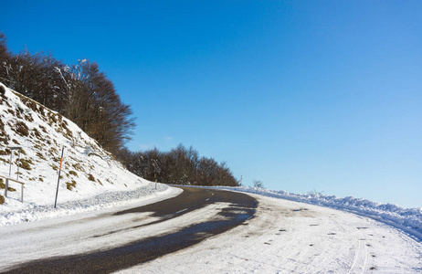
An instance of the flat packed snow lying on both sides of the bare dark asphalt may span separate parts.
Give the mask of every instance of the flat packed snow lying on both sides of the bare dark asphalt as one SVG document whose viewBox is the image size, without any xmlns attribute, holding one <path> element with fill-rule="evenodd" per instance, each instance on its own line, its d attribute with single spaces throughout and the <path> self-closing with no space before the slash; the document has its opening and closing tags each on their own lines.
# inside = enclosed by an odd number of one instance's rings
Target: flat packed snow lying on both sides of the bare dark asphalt
<svg viewBox="0 0 422 274">
<path fill-rule="evenodd" d="M 161 198 L 177 194 L 171 188 Z M 119 273 L 422 273 L 422 243 L 396 227 L 325 206 L 251 195 L 258 199 L 257 212 L 242 226 Z M 157 224 L 149 213 L 112 215 L 126 205 L 0 227 L 0 269 L 172 233 L 218 215 L 223 204 Z M 128 229 L 133 222 L 145 226 Z"/>
</svg>

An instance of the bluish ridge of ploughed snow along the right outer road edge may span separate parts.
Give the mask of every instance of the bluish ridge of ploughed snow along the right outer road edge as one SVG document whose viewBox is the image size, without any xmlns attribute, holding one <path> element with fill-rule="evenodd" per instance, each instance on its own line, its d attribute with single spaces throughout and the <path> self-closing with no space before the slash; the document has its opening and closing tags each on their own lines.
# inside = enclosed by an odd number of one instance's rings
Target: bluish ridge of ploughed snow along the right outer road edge
<svg viewBox="0 0 422 274">
<path fill-rule="evenodd" d="M 322 205 L 361 216 L 368 216 L 387 225 L 399 228 L 418 241 L 422 241 L 422 207 L 405 208 L 399 205 L 381 204 L 351 196 L 340 198 L 335 195 L 317 193 L 295 194 L 282 190 L 267 190 L 250 186 L 222 186 L 217 188 L 281 198 L 311 205 Z"/>
</svg>

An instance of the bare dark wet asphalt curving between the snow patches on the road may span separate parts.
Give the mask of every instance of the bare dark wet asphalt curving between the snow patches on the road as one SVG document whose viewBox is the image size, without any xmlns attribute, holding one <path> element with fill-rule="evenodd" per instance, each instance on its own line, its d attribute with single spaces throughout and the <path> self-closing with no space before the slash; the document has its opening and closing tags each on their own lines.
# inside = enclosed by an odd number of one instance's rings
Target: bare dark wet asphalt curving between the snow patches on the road
<svg viewBox="0 0 422 274">
<path fill-rule="evenodd" d="M 258 205 L 254 198 L 240 193 L 194 187 L 181 188 L 184 192 L 174 198 L 152 205 L 134 207 L 114 215 L 153 212 L 152 216 L 158 217 L 158 220 L 147 225 L 134 224 L 132 227 L 126 228 L 136 229 L 164 222 L 212 203 L 223 202 L 229 203 L 229 205 L 214 218 L 207 219 L 204 223 L 183 227 L 176 232 L 88 254 L 30 261 L 3 273 L 111 273 L 119 269 L 127 269 L 165 254 L 188 248 L 206 237 L 212 237 L 236 227 L 251 218 Z M 119 232 L 121 231 L 109 231 L 107 234 L 99 234 L 95 237 Z"/>
</svg>

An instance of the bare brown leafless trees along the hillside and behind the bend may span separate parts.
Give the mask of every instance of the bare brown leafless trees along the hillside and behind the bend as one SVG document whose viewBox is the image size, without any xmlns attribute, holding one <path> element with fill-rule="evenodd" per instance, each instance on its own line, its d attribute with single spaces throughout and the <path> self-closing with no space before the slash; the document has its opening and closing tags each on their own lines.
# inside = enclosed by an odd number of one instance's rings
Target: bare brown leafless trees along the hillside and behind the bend
<svg viewBox="0 0 422 274">
<path fill-rule="evenodd" d="M 113 153 L 134 174 L 168 184 L 238 185 L 226 163 L 200 157 L 194 148 L 179 145 L 130 152 L 125 143 L 135 127 L 132 109 L 97 63 L 79 59 L 67 65 L 44 51 L 14 54 L 0 32 L 0 81 L 10 89 L 58 111 Z"/>
</svg>

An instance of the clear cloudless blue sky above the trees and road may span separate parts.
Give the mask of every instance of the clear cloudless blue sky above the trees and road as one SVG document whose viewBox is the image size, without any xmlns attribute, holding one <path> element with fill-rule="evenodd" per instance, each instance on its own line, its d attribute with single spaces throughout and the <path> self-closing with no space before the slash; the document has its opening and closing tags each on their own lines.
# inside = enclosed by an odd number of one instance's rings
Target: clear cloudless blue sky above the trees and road
<svg viewBox="0 0 422 274">
<path fill-rule="evenodd" d="M 14 52 L 96 61 L 133 151 L 178 143 L 243 183 L 422 206 L 421 1 L 2 1 Z"/>
</svg>

